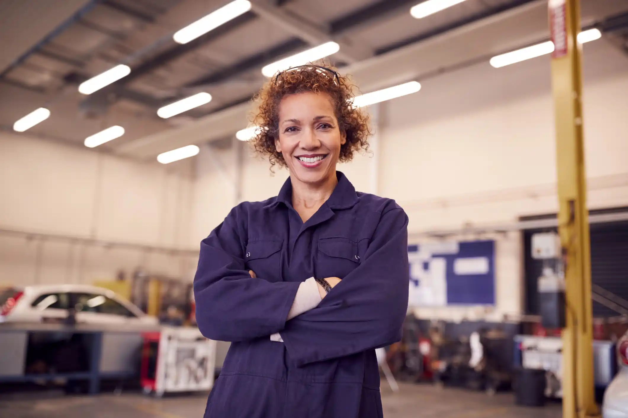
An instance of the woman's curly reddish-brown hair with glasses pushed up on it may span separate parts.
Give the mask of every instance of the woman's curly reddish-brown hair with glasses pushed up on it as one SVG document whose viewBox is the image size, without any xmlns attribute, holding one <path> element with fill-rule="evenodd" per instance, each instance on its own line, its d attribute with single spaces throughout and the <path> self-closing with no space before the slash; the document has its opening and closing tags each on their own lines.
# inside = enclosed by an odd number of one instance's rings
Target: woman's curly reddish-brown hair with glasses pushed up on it
<svg viewBox="0 0 628 418">
<path fill-rule="evenodd" d="M 279 135 L 279 103 L 286 95 L 305 91 L 326 93 L 332 99 L 338 127 L 347 135 L 347 142 L 340 147 L 340 162 L 350 161 L 355 151 L 369 148 L 369 117 L 353 105 L 357 87 L 335 68 L 310 63 L 274 75 L 253 98 L 257 112 L 252 122 L 259 128 L 251 143 L 257 152 L 268 155 L 271 170 L 275 164 L 286 166 L 283 155 L 275 148 Z"/>
</svg>

